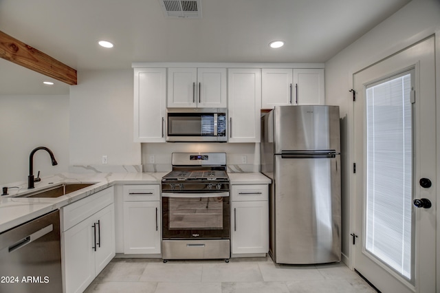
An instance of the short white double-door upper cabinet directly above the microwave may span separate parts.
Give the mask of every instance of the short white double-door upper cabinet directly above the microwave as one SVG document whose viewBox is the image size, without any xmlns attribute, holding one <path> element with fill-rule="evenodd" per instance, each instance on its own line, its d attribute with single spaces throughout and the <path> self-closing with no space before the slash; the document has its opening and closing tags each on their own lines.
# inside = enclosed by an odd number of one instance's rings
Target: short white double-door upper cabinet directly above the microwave
<svg viewBox="0 0 440 293">
<path fill-rule="evenodd" d="M 168 68 L 168 108 L 225 108 L 225 68 Z"/>
</svg>

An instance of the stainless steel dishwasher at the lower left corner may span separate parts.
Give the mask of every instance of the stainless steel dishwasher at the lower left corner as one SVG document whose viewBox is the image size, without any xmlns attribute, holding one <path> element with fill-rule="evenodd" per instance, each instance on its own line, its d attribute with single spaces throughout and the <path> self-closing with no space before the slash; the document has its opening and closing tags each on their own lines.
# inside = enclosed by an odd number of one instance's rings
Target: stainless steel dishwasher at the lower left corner
<svg viewBox="0 0 440 293">
<path fill-rule="evenodd" d="M 0 234 L 0 292 L 63 292 L 59 210 Z"/>
</svg>

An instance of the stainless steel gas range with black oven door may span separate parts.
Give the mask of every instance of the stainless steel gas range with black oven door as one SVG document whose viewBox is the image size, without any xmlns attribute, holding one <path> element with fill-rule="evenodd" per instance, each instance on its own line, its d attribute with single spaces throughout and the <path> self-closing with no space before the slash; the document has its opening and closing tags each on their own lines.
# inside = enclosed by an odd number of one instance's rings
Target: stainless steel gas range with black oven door
<svg viewBox="0 0 440 293">
<path fill-rule="evenodd" d="M 226 153 L 173 153 L 162 178 L 162 257 L 230 258 Z"/>
</svg>

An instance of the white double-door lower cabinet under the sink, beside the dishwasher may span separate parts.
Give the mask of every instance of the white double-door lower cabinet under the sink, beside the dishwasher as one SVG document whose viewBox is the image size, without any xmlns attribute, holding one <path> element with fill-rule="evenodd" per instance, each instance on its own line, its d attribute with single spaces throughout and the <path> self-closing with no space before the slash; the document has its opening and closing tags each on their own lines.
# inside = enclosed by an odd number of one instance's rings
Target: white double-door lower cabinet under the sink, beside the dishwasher
<svg viewBox="0 0 440 293">
<path fill-rule="evenodd" d="M 62 209 L 65 293 L 83 292 L 115 256 L 113 187 Z"/>
</svg>

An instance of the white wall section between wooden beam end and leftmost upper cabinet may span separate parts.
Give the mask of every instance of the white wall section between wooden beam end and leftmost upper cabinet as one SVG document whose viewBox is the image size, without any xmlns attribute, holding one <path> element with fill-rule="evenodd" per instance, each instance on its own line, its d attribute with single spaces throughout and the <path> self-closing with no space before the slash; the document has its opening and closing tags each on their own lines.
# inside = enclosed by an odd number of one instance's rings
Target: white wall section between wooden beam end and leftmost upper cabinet
<svg viewBox="0 0 440 293">
<path fill-rule="evenodd" d="M 140 164 L 133 142 L 133 70 L 78 72 L 70 89 L 70 164 Z"/>
</svg>

